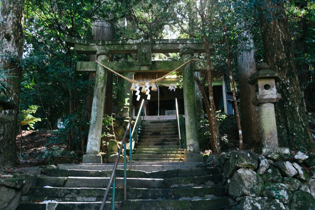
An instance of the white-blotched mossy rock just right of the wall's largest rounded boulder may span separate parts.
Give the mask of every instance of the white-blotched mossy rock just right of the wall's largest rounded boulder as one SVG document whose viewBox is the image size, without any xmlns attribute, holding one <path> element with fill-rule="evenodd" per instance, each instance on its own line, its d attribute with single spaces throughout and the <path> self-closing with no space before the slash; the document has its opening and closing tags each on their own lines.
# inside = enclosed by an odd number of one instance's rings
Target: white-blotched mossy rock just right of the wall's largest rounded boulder
<svg viewBox="0 0 315 210">
<path fill-rule="evenodd" d="M 267 198 L 278 199 L 283 203 L 289 203 L 291 199 L 291 190 L 282 183 L 273 183 L 265 185 L 263 195 Z"/>
</svg>

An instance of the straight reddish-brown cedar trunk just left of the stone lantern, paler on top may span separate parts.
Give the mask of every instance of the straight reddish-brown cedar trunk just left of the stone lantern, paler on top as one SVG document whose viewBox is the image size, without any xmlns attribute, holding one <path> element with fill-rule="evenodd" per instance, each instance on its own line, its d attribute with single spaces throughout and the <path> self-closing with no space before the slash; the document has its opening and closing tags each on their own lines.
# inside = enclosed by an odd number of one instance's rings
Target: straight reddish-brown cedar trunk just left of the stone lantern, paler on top
<svg viewBox="0 0 315 210">
<path fill-rule="evenodd" d="M 238 54 L 238 87 L 241 101 L 241 126 L 244 144 L 251 148 L 261 146 L 261 128 L 259 119 L 259 108 L 252 104 L 255 97 L 255 87 L 249 85 L 247 79 L 256 72 L 254 57 L 254 41 L 248 31 L 243 31 L 243 42 L 239 42 L 240 52 Z"/>
</svg>

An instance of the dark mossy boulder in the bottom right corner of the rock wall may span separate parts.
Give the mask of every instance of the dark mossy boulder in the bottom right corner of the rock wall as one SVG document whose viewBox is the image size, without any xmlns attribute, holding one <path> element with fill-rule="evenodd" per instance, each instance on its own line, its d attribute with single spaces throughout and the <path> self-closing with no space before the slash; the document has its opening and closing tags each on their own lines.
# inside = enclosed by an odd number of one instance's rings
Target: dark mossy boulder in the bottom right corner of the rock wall
<svg viewBox="0 0 315 210">
<path fill-rule="evenodd" d="M 306 192 L 295 191 L 289 203 L 290 210 L 314 210 L 315 199 Z"/>
</svg>

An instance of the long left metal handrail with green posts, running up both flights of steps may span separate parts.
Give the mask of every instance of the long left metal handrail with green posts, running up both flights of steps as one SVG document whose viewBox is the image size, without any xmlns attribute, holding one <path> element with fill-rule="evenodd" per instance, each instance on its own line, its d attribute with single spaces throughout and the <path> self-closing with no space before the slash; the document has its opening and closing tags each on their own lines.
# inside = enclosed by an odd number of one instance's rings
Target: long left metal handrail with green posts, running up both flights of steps
<svg viewBox="0 0 315 210">
<path fill-rule="evenodd" d="M 139 118 L 139 115 L 140 115 L 140 112 L 141 112 L 141 108 L 142 108 L 142 106 L 143 106 L 143 103 L 144 103 L 144 99 L 142 99 L 142 102 L 141 102 L 141 105 L 140 105 L 140 110 L 139 110 L 139 112 L 138 112 L 138 115 L 137 115 L 137 118 L 136 118 L 136 122 L 135 122 L 135 125 L 134 125 L 134 128 L 133 128 L 133 131 L 131 132 L 131 121 L 132 121 L 132 117 L 130 117 L 130 119 L 129 119 L 129 122 L 128 122 L 128 125 L 127 125 L 127 128 L 126 128 L 126 130 L 125 130 L 125 133 L 123 134 L 123 141 L 122 141 L 122 144 L 121 144 L 121 146 L 120 146 L 120 148 L 119 148 L 119 151 L 118 151 L 118 155 L 117 155 L 117 157 L 116 157 L 116 161 L 115 161 L 115 163 L 114 163 L 114 167 L 113 167 L 113 171 L 112 171 L 112 174 L 111 174 L 111 176 L 110 176 L 110 179 L 109 179 L 109 181 L 108 181 L 108 184 L 107 184 L 107 187 L 106 187 L 106 191 L 105 191 L 105 194 L 104 194 L 104 197 L 103 197 L 103 201 L 102 201 L 102 204 L 101 204 L 101 206 L 100 206 L 100 210 L 103 210 L 104 209 L 104 207 L 105 207 L 105 204 L 106 204 L 106 200 L 107 200 L 107 196 L 108 196 L 108 193 L 109 193 L 109 190 L 110 190 L 110 188 L 111 188 L 111 185 L 112 185 L 112 182 L 113 182 L 113 180 L 114 180 L 114 183 L 113 183 L 113 190 L 112 190 L 112 194 L 113 194 L 113 196 L 112 196 L 112 209 L 114 209 L 115 208 L 115 190 L 116 190 L 116 168 L 117 168 L 117 165 L 118 165 L 118 161 L 119 161 L 119 157 L 120 157 L 120 155 L 121 155 L 121 152 L 122 152 L 122 150 L 123 150 L 123 148 L 124 148 L 124 151 L 123 151 L 123 153 L 124 153 L 124 200 L 126 200 L 127 199 L 127 168 L 126 168 L 126 137 L 127 137 L 127 133 L 128 133 L 128 130 L 129 130 L 129 144 L 130 144 L 130 146 L 129 146 L 129 149 L 130 149 L 130 170 L 132 170 L 132 155 L 131 155 L 131 153 L 132 153 L 132 133 L 134 132 L 134 130 L 135 130 L 135 127 L 136 127 L 136 125 L 137 125 L 137 122 L 138 122 L 138 118 Z M 144 110 L 143 110 L 144 111 Z M 144 113 L 143 113 L 143 115 L 144 115 Z M 141 118 L 140 118 L 141 119 Z M 144 117 L 143 117 L 143 119 L 144 119 Z M 140 121 L 141 122 L 141 121 Z M 115 178 L 115 179 L 114 179 Z"/>
</svg>

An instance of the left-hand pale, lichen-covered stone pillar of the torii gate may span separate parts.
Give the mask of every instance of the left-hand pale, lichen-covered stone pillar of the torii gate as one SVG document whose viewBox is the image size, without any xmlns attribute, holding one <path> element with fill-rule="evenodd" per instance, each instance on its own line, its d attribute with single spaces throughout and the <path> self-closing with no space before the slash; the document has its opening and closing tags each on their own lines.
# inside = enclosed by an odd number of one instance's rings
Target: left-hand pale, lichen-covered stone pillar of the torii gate
<svg viewBox="0 0 315 210">
<path fill-rule="evenodd" d="M 106 65 L 106 62 L 108 62 L 111 57 L 111 53 L 105 49 L 100 49 L 97 51 L 96 56 L 97 61 Z M 100 155 L 100 136 L 102 133 L 106 78 L 106 69 L 98 65 L 95 73 L 88 145 L 86 147 L 86 155 L 83 155 L 82 163 L 102 163 L 102 156 Z"/>
</svg>

